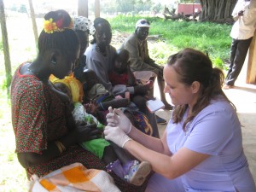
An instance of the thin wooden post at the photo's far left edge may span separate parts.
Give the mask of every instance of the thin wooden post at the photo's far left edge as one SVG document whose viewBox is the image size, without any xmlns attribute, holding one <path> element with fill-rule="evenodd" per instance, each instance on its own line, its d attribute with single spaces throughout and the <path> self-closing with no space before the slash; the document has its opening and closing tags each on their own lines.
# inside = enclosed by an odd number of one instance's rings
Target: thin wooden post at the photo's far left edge
<svg viewBox="0 0 256 192">
<path fill-rule="evenodd" d="M 1 22 L 1 29 L 2 29 L 6 87 L 7 87 L 7 93 L 9 95 L 9 85 L 12 79 L 12 74 L 11 74 L 12 69 L 11 69 L 11 62 L 9 57 L 8 33 L 7 33 L 6 20 L 5 20 L 5 14 L 4 14 L 3 0 L 0 0 L 0 22 Z"/>
</svg>

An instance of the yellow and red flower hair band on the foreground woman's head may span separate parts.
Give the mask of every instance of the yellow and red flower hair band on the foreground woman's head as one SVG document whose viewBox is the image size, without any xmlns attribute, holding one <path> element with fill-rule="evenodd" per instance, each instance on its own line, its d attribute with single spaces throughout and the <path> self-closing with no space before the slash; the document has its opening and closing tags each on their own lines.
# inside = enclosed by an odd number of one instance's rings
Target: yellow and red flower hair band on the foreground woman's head
<svg viewBox="0 0 256 192">
<path fill-rule="evenodd" d="M 44 20 L 44 32 L 53 33 L 53 32 L 63 32 L 65 29 L 73 28 L 73 20 L 70 21 L 69 26 L 63 27 L 63 18 L 60 20 L 53 21 L 52 18 L 49 20 Z"/>
</svg>

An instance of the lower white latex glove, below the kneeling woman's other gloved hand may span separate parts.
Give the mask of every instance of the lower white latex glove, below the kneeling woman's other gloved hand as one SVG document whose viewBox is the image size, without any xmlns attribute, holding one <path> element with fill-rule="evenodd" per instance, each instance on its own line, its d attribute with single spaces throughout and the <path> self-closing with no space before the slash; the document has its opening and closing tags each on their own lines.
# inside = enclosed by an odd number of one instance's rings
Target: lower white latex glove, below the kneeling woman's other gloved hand
<svg viewBox="0 0 256 192">
<path fill-rule="evenodd" d="M 131 140 L 118 126 L 105 126 L 104 135 L 106 140 L 116 143 L 121 148 L 124 148 L 125 143 Z"/>
</svg>

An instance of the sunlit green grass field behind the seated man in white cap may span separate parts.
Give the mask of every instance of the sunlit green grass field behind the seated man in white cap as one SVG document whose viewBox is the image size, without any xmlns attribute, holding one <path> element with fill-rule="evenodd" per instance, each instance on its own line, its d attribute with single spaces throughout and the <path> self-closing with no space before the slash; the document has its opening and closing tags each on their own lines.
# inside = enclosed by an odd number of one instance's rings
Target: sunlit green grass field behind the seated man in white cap
<svg viewBox="0 0 256 192">
<path fill-rule="evenodd" d="M 123 16 L 109 19 L 113 30 L 119 32 L 134 32 L 135 23 L 141 19 L 140 16 Z M 212 61 L 227 60 L 230 56 L 230 29 L 229 25 L 221 25 L 209 22 L 186 22 L 163 20 L 161 18 L 146 17 L 151 27 L 149 35 L 160 35 L 165 42 L 160 46 L 157 44 L 152 57 L 161 61 L 167 59 L 173 51 L 185 47 L 199 49 L 208 52 Z M 149 47 L 150 49 L 150 47 Z M 157 53 L 155 53 L 157 50 Z M 168 50 L 170 53 L 168 53 Z M 154 57 L 155 56 L 155 57 Z M 164 57 L 164 58 L 163 58 Z M 215 63 L 214 63 L 215 65 Z M 222 67 L 215 65 L 217 67 Z"/>
</svg>

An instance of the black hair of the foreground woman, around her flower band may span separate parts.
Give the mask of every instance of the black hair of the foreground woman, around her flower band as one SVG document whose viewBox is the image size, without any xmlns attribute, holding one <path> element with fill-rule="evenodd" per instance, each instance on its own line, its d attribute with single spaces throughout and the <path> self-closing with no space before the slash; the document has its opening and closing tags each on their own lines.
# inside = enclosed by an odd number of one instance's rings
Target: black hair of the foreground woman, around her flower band
<svg viewBox="0 0 256 192">
<path fill-rule="evenodd" d="M 43 56 L 49 49 L 59 49 L 61 53 L 68 54 L 79 48 L 79 39 L 72 29 L 72 19 L 65 10 L 50 11 L 44 16 L 44 20 L 57 22 L 61 20 L 61 31 L 52 33 L 44 29 L 38 38 L 38 55 Z"/>
</svg>

